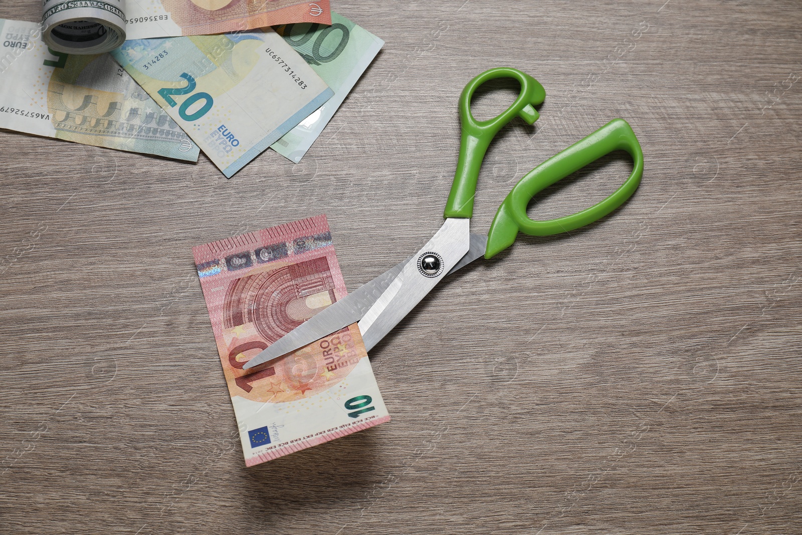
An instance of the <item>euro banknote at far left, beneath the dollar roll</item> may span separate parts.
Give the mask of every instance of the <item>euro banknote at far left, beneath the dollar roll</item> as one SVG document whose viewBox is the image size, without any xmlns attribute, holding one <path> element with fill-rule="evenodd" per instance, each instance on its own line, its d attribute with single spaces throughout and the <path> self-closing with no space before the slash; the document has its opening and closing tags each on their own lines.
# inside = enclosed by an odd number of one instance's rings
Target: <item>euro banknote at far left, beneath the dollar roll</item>
<svg viewBox="0 0 802 535">
<path fill-rule="evenodd" d="M 111 56 L 53 51 L 34 22 L 0 18 L 0 35 L 0 128 L 197 161 L 197 145 Z"/>
</svg>

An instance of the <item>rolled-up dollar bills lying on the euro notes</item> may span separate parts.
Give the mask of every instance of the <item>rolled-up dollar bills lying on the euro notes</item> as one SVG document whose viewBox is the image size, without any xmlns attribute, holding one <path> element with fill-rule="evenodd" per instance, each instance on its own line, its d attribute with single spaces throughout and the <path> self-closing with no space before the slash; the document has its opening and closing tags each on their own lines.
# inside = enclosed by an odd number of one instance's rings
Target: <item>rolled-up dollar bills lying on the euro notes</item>
<svg viewBox="0 0 802 535">
<path fill-rule="evenodd" d="M 44 0 L 42 26 L 57 52 L 108 52 L 125 41 L 125 0 Z"/>
</svg>

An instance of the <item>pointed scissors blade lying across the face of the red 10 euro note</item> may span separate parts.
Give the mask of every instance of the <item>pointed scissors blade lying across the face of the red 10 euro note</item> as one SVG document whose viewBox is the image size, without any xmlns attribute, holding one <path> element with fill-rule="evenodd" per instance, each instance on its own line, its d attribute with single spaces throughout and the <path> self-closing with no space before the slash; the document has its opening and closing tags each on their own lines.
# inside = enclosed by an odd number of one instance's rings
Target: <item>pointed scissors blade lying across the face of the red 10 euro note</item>
<svg viewBox="0 0 802 535">
<path fill-rule="evenodd" d="M 370 310 L 384 290 L 387 290 L 387 286 L 390 286 L 391 282 L 398 277 L 407 261 L 409 261 L 408 258 L 390 270 L 385 271 L 371 282 L 359 286 L 358 289 L 348 294 L 345 298 L 332 303 L 326 307 L 326 310 L 321 310 L 318 314 L 307 319 L 306 322 L 295 327 L 285 336 L 270 344 L 267 349 L 261 351 L 253 359 L 250 359 L 243 368 L 247 370 L 254 366 L 259 366 L 269 360 L 286 355 L 290 351 L 304 347 L 315 340 L 319 340 L 326 334 L 340 330 L 346 325 L 358 322 L 363 318 L 367 310 Z"/>
</svg>

